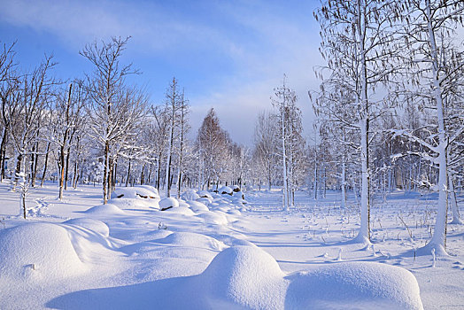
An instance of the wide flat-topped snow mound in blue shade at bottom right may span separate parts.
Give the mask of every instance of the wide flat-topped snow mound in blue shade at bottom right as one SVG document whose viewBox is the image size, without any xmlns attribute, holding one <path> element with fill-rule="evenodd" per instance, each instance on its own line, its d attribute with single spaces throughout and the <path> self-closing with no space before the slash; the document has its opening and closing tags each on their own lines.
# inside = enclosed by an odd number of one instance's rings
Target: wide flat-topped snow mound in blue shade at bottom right
<svg viewBox="0 0 464 310">
<path fill-rule="evenodd" d="M 290 308 L 422 309 L 409 271 L 375 262 L 347 262 L 287 277 Z"/>
</svg>

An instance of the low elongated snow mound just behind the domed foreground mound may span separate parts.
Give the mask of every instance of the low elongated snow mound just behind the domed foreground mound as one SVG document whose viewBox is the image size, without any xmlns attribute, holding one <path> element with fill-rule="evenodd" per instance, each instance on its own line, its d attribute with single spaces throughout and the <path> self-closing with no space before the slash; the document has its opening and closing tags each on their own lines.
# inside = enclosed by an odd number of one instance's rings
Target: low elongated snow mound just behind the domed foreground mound
<svg viewBox="0 0 464 310">
<path fill-rule="evenodd" d="M 226 244 L 212 238 L 190 232 L 174 232 L 162 239 L 153 240 L 157 244 L 170 244 L 175 246 L 195 247 L 209 249 L 213 251 L 222 251 L 227 248 Z"/>
</svg>

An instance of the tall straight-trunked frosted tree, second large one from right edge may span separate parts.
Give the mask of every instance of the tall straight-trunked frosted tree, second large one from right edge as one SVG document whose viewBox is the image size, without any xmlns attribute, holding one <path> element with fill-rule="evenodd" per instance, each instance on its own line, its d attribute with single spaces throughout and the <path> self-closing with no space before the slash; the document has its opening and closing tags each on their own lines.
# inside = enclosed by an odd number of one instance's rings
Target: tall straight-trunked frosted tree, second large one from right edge
<svg viewBox="0 0 464 310">
<path fill-rule="evenodd" d="M 380 0 L 327 0 L 314 16 L 321 25 L 321 53 L 329 70 L 321 101 L 329 113 L 333 105 L 347 109 L 350 105 L 355 121 L 343 120 L 342 115 L 337 118 L 360 133 L 361 222 L 355 241 L 369 243 L 372 121 L 385 108 L 375 90 L 385 87 L 396 70 L 398 47 L 392 26 L 398 13 L 394 4 Z M 341 96 L 346 100 L 336 101 Z"/>
</svg>

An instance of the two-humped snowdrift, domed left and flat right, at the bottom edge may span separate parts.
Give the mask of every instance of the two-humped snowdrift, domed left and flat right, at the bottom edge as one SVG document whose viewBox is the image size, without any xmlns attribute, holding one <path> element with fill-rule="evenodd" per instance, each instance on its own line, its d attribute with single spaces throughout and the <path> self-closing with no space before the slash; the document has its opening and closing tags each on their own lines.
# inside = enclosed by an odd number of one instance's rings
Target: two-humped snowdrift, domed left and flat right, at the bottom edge
<svg viewBox="0 0 464 310">
<path fill-rule="evenodd" d="M 194 280 L 203 283 L 197 308 L 421 309 L 409 271 L 372 262 L 338 263 L 285 276 L 258 247 L 220 252 Z"/>
</svg>

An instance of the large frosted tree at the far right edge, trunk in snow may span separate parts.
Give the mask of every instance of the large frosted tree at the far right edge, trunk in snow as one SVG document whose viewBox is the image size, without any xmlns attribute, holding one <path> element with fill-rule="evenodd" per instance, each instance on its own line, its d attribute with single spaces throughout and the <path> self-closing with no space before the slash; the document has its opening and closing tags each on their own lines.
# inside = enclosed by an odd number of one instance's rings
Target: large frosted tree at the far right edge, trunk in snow
<svg viewBox="0 0 464 310">
<path fill-rule="evenodd" d="M 420 143 L 424 148 L 422 157 L 438 167 L 437 221 L 429 244 L 423 248 L 425 253 L 435 250 L 437 254 L 445 254 L 447 173 L 450 160 L 447 157 L 452 157 L 452 153 L 447 154 L 447 150 L 464 132 L 462 122 L 453 120 L 455 112 L 461 115 L 462 105 L 447 103 L 456 99 L 455 91 L 459 89 L 457 86 L 464 74 L 462 50 L 454 43 L 455 29 L 462 26 L 463 13 L 464 3 L 458 0 L 406 1 L 403 13 L 406 20 L 406 64 L 414 86 L 408 99 L 419 100 L 423 108 L 435 112 L 435 120 L 422 127 L 428 135 L 419 136 L 410 130 L 396 132 L 398 136 L 406 136 Z"/>
</svg>

